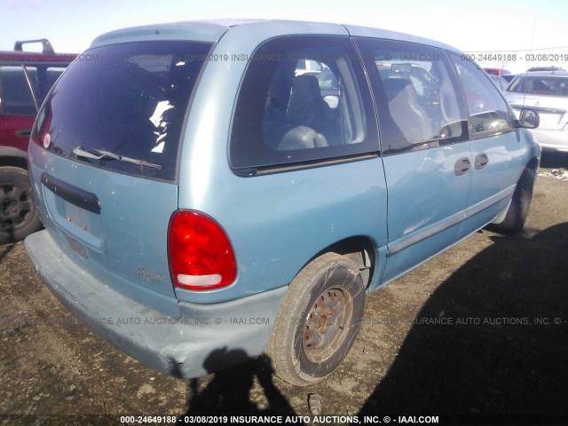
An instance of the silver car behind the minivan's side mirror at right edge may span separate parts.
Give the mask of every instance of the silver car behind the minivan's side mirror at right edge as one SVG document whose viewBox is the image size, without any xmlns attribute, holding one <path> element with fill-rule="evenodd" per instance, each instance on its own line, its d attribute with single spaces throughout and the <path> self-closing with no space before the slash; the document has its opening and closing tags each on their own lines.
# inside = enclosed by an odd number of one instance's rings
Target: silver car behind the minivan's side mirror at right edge
<svg viewBox="0 0 568 426">
<path fill-rule="evenodd" d="M 545 151 L 568 153 L 568 72 L 535 71 L 517 75 L 504 92 L 515 114 L 536 110 L 540 125 L 531 130 Z"/>
</svg>

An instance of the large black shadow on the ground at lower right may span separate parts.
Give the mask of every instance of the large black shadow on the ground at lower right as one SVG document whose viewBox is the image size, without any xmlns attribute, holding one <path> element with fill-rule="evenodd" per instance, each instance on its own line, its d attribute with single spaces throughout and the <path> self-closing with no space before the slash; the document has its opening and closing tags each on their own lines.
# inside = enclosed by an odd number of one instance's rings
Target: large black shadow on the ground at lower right
<svg viewBox="0 0 568 426">
<path fill-rule="evenodd" d="M 494 235 L 436 289 L 359 414 L 568 421 L 568 223 L 529 233 Z"/>
</svg>

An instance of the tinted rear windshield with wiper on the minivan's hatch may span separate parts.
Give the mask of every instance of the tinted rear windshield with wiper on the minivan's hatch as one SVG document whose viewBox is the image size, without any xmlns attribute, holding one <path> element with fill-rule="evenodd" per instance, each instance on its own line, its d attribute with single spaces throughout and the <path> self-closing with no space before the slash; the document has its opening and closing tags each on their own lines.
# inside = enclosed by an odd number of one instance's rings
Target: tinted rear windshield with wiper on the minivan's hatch
<svg viewBox="0 0 568 426">
<path fill-rule="evenodd" d="M 146 42 L 91 49 L 92 60 L 75 61 L 51 91 L 34 138 L 95 167 L 174 180 L 185 112 L 203 65 L 196 59 L 210 48 Z"/>
</svg>

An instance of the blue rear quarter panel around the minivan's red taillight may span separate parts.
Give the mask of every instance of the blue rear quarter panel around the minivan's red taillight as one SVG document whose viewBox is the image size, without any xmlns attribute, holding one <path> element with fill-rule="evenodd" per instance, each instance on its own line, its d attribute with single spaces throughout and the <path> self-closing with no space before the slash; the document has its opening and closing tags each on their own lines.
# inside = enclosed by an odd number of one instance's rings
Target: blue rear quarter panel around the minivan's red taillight
<svg viewBox="0 0 568 426">
<path fill-rule="evenodd" d="M 305 26 L 300 28 L 306 34 Z M 333 24 L 314 24 L 311 30 L 348 36 Z M 231 28 L 201 77 L 185 130 L 179 208 L 200 210 L 225 228 L 239 272 L 231 288 L 177 289 L 183 300 L 215 303 L 288 285 L 319 251 L 347 237 L 366 235 L 377 247 L 386 244 L 380 158 L 259 177 L 238 177 L 230 170 L 231 117 L 247 61 L 221 58 L 251 55 L 264 40 L 297 32 L 295 25 L 278 21 L 254 30 Z"/>
</svg>

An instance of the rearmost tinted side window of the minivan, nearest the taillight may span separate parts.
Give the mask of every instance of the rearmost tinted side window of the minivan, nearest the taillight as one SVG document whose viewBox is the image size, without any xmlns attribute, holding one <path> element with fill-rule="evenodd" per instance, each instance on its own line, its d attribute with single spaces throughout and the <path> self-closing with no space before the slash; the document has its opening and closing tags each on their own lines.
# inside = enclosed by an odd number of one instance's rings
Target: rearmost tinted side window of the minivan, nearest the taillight
<svg viewBox="0 0 568 426">
<path fill-rule="evenodd" d="M 262 168 L 376 152 L 372 111 L 349 38 L 272 39 L 256 50 L 241 84 L 231 165 Z"/>
</svg>

